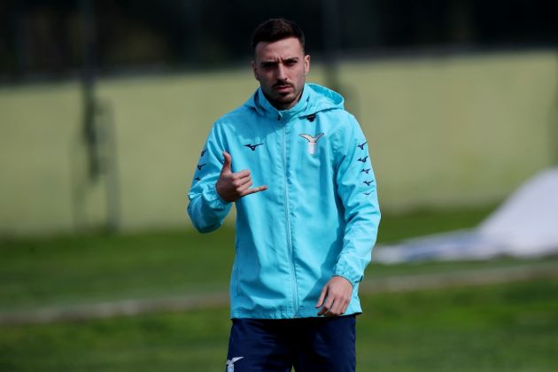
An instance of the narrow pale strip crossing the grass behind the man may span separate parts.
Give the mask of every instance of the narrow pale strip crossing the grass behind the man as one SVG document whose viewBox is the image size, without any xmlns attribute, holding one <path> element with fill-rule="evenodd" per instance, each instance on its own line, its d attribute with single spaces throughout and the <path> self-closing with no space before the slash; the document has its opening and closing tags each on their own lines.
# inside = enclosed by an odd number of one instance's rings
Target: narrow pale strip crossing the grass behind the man
<svg viewBox="0 0 558 372">
<path fill-rule="evenodd" d="M 523 263 L 510 267 L 461 269 L 453 272 L 420 275 L 397 275 L 365 279 L 360 283 L 361 294 L 380 292 L 445 289 L 494 283 L 509 283 L 558 276 L 558 262 Z M 112 302 L 97 302 L 79 306 L 51 306 L 28 311 L 0 313 L 0 326 L 72 322 L 109 318 L 122 315 L 156 312 L 180 312 L 203 307 L 228 306 L 227 292 L 185 295 L 164 298 L 135 298 Z"/>
</svg>

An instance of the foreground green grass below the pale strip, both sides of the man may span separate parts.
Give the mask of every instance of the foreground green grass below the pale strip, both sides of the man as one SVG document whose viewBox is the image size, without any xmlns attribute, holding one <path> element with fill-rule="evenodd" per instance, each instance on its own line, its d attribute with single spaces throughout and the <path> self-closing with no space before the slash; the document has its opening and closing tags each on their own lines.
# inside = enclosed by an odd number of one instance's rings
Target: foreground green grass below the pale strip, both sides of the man
<svg viewBox="0 0 558 372">
<path fill-rule="evenodd" d="M 360 371 L 551 371 L 558 279 L 364 296 Z M 3 327 L 0 370 L 223 370 L 228 309 Z"/>
</svg>

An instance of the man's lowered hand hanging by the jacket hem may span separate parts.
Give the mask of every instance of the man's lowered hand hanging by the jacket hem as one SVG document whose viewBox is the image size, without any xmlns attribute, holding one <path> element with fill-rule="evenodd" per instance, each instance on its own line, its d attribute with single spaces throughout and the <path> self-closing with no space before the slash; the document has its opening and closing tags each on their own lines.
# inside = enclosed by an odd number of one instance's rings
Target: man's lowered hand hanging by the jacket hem
<svg viewBox="0 0 558 372">
<path fill-rule="evenodd" d="M 323 286 L 322 293 L 316 308 L 322 307 L 318 316 L 338 316 L 345 314 L 351 297 L 353 296 L 353 284 L 342 276 L 333 276 Z"/>
</svg>

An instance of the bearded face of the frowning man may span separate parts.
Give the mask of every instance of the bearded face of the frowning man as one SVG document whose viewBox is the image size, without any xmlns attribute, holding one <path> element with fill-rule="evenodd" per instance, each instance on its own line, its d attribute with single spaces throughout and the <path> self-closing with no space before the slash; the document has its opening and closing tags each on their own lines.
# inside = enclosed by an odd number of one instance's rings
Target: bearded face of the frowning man
<svg viewBox="0 0 558 372">
<path fill-rule="evenodd" d="M 302 95 L 310 56 L 304 55 L 296 37 L 260 42 L 256 45 L 252 69 L 269 103 L 278 110 L 288 110 Z"/>
</svg>

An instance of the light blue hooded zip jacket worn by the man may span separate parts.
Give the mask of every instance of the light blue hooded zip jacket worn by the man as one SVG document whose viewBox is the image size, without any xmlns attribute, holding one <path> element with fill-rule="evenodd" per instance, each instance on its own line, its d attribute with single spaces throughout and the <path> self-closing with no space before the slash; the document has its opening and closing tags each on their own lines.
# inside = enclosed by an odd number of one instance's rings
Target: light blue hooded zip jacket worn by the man
<svg viewBox="0 0 558 372">
<path fill-rule="evenodd" d="M 233 172 L 248 169 L 254 187 L 268 187 L 236 201 L 231 318 L 317 316 L 332 275 L 353 284 L 345 314 L 360 313 L 358 287 L 380 211 L 367 140 L 343 97 L 306 84 L 297 105 L 277 111 L 258 89 L 217 120 L 188 194 L 191 221 L 204 233 L 232 206 L 215 190 L 222 151 Z"/>
</svg>

